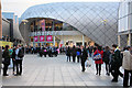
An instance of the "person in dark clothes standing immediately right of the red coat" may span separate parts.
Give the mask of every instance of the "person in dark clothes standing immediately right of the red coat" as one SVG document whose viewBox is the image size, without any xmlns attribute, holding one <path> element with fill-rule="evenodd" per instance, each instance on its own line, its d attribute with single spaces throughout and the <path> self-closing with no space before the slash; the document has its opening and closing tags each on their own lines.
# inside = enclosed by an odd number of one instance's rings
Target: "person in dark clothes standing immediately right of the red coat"
<svg viewBox="0 0 132 88">
<path fill-rule="evenodd" d="M 105 47 L 102 62 L 105 62 L 105 64 L 106 64 L 106 72 L 107 72 L 106 75 L 110 76 L 110 50 L 109 50 L 109 46 Z"/>
</svg>

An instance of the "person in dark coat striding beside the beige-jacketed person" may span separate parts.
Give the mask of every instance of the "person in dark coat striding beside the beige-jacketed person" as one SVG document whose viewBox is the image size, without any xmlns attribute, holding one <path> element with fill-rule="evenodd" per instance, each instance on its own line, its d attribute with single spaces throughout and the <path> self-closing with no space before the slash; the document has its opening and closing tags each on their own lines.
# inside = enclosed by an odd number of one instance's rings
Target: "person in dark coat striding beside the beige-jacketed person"
<svg viewBox="0 0 132 88">
<path fill-rule="evenodd" d="M 113 59 L 111 61 L 111 75 L 113 76 L 112 82 L 118 82 L 119 75 L 123 77 L 123 74 L 120 72 L 121 67 L 121 53 L 117 48 L 118 45 L 113 44 L 112 48 L 114 51 L 113 53 Z"/>
</svg>

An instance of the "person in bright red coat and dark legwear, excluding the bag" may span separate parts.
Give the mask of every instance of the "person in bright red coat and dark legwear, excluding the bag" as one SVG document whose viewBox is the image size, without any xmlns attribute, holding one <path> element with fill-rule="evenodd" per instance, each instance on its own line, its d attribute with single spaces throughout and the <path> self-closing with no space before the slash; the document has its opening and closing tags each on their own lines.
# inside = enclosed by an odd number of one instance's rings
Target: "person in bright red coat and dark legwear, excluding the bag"
<svg viewBox="0 0 132 88">
<path fill-rule="evenodd" d="M 98 46 L 97 50 L 95 51 L 94 55 L 96 54 L 101 54 L 101 57 L 103 56 L 103 51 L 102 51 L 102 47 L 101 46 Z M 95 64 L 96 64 L 96 69 L 97 69 L 97 74 L 99 74 L 99 76 L 101 75 L 101 64 L 103 64 L 102 62 L 102 58 L 99 59 L 99 61 L 95 61 Z"/>
</svg>

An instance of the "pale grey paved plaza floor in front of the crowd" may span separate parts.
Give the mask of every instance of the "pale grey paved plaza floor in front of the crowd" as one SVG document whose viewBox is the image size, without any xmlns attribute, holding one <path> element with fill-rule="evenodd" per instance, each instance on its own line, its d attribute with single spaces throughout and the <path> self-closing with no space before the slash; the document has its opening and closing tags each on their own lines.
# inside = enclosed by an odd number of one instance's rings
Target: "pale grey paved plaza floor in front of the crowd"
<svg viewBox="0 0 132 88">
<path fill-rule="evenodd" d="M 58 57 L 38 57 L 25 55 L 23 75 L 13 76 L 9 69 L 9 77 L 2 77 L 3 86 L 122 86 L 111 82 L 112 77 L 106 76 L 102 66 L 101 76 L 97 76 L 95 65 L 81 73 L 80 64 L 66 62 L 65 55 Z"/>
</svg>

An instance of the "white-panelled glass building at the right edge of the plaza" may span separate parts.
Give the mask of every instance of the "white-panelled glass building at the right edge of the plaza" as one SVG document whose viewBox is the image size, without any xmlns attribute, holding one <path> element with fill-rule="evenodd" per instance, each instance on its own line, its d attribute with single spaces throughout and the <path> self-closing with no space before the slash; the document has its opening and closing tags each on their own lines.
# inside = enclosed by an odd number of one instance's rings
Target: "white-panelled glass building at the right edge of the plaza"
<svg viewBox="0 0 132 88">
<path fill-rule="evenodd" d="M 132 45 L 132 1 L 123 0 L 119 8 L 119 46 Z"/>
</svg>

